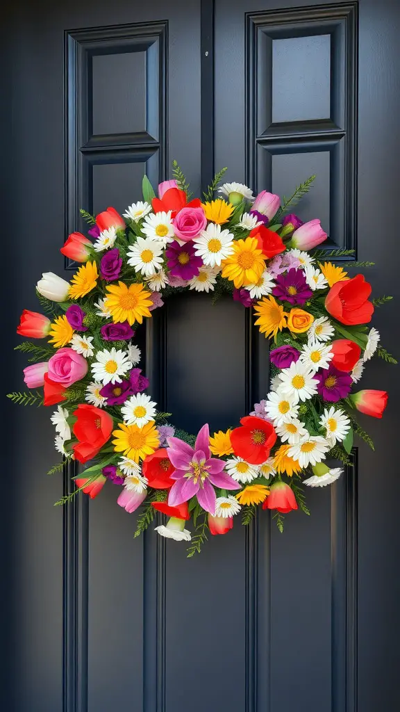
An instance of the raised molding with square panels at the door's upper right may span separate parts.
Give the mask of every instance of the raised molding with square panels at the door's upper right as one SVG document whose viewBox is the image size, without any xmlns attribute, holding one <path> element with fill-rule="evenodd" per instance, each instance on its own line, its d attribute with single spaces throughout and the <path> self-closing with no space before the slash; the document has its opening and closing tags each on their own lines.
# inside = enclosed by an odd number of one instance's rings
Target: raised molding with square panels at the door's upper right
<svg viewBox="0 0 400 712">
<path fill-rule="evenodd" d="M 275 192 L 272 156 L 328 152 L 330 206 L 322 227 L 327 249 L 354 250 L 347 261 L 357 258 L 357 6 L 246 15 L 246 182 Z M 294 188 L 288 175 L 286 193 Z"/>
</svg>

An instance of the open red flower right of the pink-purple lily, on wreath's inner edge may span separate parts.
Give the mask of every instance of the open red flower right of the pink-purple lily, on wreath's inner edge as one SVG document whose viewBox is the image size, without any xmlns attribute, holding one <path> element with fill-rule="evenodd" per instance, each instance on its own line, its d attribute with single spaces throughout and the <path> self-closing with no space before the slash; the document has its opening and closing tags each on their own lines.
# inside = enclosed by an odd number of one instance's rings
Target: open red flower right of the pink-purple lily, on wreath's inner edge
<svg viewBox="0 0 400 712">
<path fill-rule="evenodd" d="M 235 454 L 252 465 L 260 465 L 268 460 L 275 441 L 273 425 L 268 423 L 268 420 L 253 415 L 241 418 L 241 427 L 231 432 L 231 444 Z"/>
</svg>

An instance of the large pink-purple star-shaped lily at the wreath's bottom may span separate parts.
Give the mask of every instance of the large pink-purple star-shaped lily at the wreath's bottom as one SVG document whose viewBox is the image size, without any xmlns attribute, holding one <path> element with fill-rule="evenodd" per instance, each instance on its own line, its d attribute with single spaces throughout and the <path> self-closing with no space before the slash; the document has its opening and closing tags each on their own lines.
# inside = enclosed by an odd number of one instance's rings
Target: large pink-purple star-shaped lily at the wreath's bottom
<svg viewBox="0 0 400 712">
<path fill-rule="evenodd" d="M 213 485 L 223 489 L 240 489 L 240 485 L 226 472 L 225 462 L 211 457 L 209 425 L 204 425 L 196 438 L 194 448 L 179 438 L 168 438 L 167 454 L 175 470 L 171 475 L 176 482 L 169 491 L 168 504 L 175 507 L 197 496 L 199 505 L 215 515 L 216 493 Z"/>
</svg>

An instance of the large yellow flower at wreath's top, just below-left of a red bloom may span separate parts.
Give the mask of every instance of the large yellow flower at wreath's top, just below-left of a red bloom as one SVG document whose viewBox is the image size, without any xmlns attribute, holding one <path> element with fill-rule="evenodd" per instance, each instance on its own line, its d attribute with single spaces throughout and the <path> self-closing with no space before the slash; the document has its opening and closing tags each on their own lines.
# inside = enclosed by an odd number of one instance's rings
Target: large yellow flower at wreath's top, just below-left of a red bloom
<svg viewBox="0 0 400 712">
<path fill-rule="evenodd" d="M 236 289 L 256 284 L 265 270 L 263 251 L 255 237 L 233 242 L 233 254 L 223 260 L 222 277 L 233 281 Z"/>
</svg>

